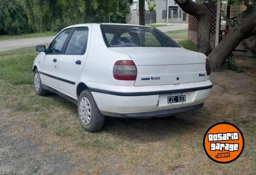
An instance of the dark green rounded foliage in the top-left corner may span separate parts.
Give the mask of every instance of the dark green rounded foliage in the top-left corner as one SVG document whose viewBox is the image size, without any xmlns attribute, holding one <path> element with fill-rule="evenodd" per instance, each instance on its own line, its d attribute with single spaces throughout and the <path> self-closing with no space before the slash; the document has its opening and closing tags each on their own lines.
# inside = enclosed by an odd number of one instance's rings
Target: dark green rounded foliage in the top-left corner
<svg viewBox="0 0 256 175">
<path fill-rule="evenodd" d="M 23 6 L 17 0 L 0 0 L 0 34 L 29 32 L 28 18 Z"/>
</svg>

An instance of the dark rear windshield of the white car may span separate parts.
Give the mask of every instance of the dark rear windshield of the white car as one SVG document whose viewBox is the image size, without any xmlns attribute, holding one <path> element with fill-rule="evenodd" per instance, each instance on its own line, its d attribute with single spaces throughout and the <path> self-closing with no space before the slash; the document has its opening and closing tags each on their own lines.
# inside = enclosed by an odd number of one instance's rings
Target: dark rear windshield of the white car
<svg viewBox="0 0 256 175">
<path fill-rule="evenodd" d="M 101 25 L 108 47 L 180 47 L 156 28 L 128 25 Z"/>
</svg>

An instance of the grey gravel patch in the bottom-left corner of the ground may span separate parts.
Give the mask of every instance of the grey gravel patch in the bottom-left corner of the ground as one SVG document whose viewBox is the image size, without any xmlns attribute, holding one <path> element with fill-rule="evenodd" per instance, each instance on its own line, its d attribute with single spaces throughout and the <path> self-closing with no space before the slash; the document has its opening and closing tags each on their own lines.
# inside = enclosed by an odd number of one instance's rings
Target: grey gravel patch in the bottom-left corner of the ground
<svg viewBox="0 0 256 175">
<path fill-rule="evenodd" d="M 50 175 L 60 172 L 69 174 L 73 169 L 66 152 L 53 153 L 55 145 L 52 145 L 52 150 L 42 152 L 42 144 L 34 137 L 36 133 L 31 126 L 9 123 L 10 121 L 5 119 L 2 122 L 0 124 L 0 175 Z M 22 127 L 22 132 L 10 134 L 13 126 Z"/>
</svg>

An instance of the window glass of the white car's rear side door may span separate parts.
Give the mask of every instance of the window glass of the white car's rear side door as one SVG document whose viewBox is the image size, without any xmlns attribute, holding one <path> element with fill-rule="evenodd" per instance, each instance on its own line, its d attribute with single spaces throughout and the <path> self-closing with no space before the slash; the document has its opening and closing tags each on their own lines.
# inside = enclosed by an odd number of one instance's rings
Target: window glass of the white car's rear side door
<svg viewBox="0 0 256 175">
<path fill-rule="evenodd" d="M 67 44 L 65 54 L 83 55 L 85 53 L 87 40 L 88 28 L 76 28 Z"/>
</svg>

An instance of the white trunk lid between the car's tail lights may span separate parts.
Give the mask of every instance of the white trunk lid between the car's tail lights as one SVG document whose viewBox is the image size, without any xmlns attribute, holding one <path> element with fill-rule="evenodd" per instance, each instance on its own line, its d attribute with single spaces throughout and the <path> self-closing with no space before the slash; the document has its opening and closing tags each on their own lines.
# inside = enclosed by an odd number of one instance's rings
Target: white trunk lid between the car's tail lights
<svg viewBox="0 0 256 175">
<path fill-rule="evenodd" d="M 111 47 L 131 57 L 137 67 L 135 86 L 205 81 L 206 56 L 181 47 Z"/>
</svg>

